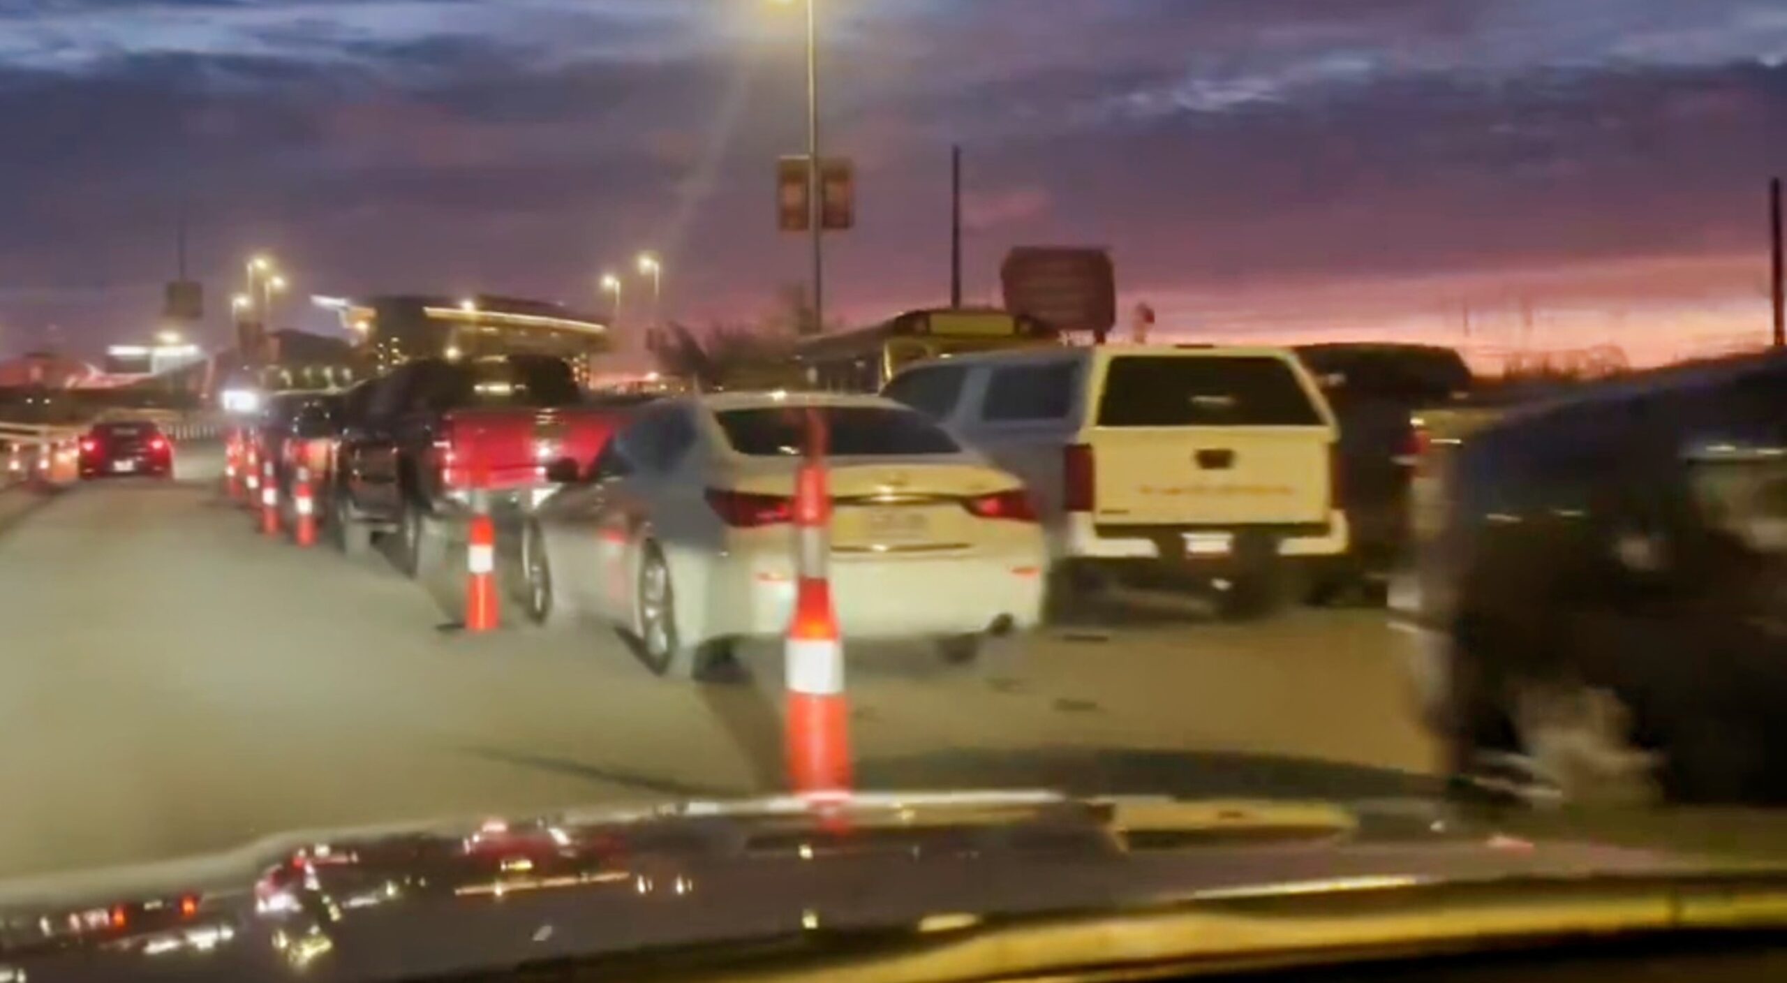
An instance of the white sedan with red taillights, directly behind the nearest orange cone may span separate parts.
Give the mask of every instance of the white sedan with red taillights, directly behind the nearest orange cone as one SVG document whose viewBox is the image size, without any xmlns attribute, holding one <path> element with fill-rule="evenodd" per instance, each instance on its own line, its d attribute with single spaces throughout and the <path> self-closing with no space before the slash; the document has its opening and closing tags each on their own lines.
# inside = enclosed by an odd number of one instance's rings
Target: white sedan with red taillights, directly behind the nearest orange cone
<svg viewBox="0 0 1787 983">
<path fill-rule="evenodd" d="M 829 433 L 831 592 L 852 638 L 929 638 L 967 661 L 1035 627 L 1047 550 L 1022 483 L 879 397 L 736 393 L 650 404 L 527 520 L 522 601 L 617 626 L 659 674 L 779 636 L 795 583 L 806 415 Z"/>
</svg>

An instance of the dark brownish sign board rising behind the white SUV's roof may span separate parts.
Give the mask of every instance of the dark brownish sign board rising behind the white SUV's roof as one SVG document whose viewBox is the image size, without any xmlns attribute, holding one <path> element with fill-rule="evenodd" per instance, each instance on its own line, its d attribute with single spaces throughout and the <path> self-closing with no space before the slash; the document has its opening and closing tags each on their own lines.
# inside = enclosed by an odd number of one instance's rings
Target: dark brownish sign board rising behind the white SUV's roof
<svg viewBox="0 0 1787 983">
<path fill-rule="evenodd" d="M 1117 323 L 1117 273 L 1103 248 L 1017 247 L 999 265 L 1004 306 L 1097 343 Z"/>
</svg>

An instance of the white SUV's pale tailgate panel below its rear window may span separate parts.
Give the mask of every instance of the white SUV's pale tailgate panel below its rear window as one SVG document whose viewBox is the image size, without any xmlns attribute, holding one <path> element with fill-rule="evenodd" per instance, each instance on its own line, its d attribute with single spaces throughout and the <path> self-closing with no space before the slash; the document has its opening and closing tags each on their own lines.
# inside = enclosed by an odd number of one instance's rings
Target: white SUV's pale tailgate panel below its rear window
<svg viewBox="0 0 1787 983">
<path fill-rule="evenodd" d="M 1099 429 L 1101 524 L 1278 525 L 1326 522 L 1326 427 Z"/>
</svg>

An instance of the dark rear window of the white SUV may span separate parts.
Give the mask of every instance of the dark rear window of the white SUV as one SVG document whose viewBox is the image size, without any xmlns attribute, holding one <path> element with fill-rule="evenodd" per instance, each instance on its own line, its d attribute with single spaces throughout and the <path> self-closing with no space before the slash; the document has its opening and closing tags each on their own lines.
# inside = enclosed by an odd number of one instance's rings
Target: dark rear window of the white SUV
<svg viewBox="0 0 1787 983">
<path fill-rule="evenodd" d="M 1267 356 L 1117 356 L 1101 427 L 1308 427 L 1322 416 L 1288 363 Z"/>
</svg>

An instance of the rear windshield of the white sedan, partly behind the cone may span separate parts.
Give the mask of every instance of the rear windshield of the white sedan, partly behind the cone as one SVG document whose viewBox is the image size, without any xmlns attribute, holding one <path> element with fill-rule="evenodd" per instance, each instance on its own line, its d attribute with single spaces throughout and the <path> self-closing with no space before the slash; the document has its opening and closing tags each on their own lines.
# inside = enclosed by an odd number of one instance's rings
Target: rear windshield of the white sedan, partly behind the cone
<svg viewBox="0 0 1787 983">
<path fill-rule="evenodd" d="M 717 413 L 727 443 L 752 458 L 793 458 L 806 449 L 806 407 L 768 406 Z M 840 458 L 954 454 L 954 438 L 910 409 L 822 406 L 827 452 Z"/>
</svg>

